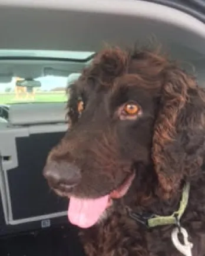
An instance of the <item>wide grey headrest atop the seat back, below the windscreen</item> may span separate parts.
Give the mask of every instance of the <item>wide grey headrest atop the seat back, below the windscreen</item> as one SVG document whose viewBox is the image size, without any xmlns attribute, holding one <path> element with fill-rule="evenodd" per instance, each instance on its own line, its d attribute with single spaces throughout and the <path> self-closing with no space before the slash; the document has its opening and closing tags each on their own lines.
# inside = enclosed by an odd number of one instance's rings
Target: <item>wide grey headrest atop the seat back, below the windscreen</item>
<svg viewBox="0 0 205 256">
<path fill-rule="evenodd" d="M 21 103 L 9 108 L 9 124 L 65 123 L 66 103 Z"/>
</svg>

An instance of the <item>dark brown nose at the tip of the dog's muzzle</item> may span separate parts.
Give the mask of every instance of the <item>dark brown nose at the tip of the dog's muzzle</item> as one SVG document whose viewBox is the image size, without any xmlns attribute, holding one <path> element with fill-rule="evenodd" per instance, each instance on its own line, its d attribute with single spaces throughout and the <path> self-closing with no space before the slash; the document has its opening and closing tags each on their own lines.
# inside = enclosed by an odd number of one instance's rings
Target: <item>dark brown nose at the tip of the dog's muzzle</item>
<svg viewBox="0 0 205 256">
<path fill-rule="evenodd" d="M 52 188 L 69 191 L 80 182 L 81 172 L 72 163 L 51 161 L 44 168 L 44 177 Z"/>
</svg>

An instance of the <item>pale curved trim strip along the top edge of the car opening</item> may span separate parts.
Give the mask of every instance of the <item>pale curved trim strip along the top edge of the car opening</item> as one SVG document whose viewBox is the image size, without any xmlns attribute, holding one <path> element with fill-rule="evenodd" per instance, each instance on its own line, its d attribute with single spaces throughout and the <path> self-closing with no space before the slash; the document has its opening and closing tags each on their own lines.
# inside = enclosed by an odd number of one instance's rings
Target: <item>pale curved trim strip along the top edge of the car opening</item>
<svg viewBox="0 0 205 256">
<path fill-rule="evenodd" d="M 203 22 L 189 14 L 168 6 L 135 0 L 1 0 L 1 6 L 30 7 L 42 9 L 60 9 L 104 14 L 129 15 L 173 24 L 188 29 L 205 38 Z"/>
</svg>

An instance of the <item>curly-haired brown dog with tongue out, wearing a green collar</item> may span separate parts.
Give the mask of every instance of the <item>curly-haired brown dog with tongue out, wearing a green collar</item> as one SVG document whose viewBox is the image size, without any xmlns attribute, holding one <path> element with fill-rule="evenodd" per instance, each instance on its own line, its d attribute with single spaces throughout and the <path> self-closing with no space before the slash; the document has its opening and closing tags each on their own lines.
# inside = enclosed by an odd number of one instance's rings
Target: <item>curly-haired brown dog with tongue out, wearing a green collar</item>
<svg viewBox="0 0 205 256">
<path fill-rule="evenodd" d="M 205 255 L 205 92 L 196 80 L 156 51 L 116 47 L 68 90 L 70 128 L 44 176 L 70 198 L 85 253 L 183 255 L 176 245 L 187 231 L 192 255 Z"/>
</svg>

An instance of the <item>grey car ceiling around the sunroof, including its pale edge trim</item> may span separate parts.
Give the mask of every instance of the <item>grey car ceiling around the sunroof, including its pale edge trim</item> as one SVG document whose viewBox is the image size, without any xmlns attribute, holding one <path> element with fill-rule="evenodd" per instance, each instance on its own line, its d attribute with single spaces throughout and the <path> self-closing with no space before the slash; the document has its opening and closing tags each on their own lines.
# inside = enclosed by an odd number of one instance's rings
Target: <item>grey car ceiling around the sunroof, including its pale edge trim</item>
<svg viewBox="0 0 205 256">
<path fill-rule="evenodd" d="M 173 58 L 196 66 L 205 63 L 205 24 L 147 1 L 1 0 L 0 34 L 0 49 L 72 51 L 98 51 L 105 44 L 134 46 L 154 37 Z M 84 64 L 0 59 L 3 74 L 35 77 L 47 67 L 67 76 Z"/>
</svg>

